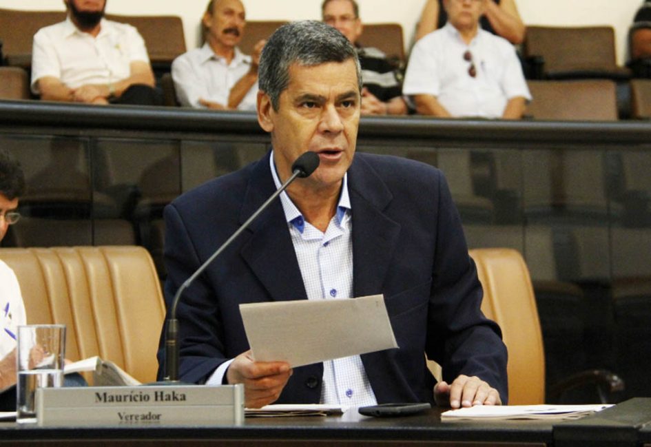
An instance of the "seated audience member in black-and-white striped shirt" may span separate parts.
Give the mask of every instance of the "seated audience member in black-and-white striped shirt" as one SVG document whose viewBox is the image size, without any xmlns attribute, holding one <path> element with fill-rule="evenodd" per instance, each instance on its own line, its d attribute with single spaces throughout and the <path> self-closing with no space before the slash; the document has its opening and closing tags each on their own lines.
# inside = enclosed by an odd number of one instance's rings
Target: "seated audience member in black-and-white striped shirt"
<svg viewBox="0 0 651 447">
<path fill-rule="evenodd" d="M 362 35 L 359 6 L 355 0 L 325 0 L 321 6 L 322 19 L 337 28 L 355 45 L 362 65 L 362 114 L 403 115 L 407 105 L 402 98 L 402 85 L 395 66 L 378 48 L 362 48 L 357 39 Z"/>
</svg>

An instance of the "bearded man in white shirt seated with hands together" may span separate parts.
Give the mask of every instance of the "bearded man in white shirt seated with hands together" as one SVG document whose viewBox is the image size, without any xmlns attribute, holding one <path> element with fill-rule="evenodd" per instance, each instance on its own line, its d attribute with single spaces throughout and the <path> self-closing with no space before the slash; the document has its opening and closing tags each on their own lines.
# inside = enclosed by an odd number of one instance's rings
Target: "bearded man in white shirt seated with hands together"
<svg viewBox="0 0 651 447">
<path fill-rule="evenodd" d="M 159 105 L 145 41 L 104 19 L 106 0 L 64 0 L 68 18 L 34 35 L 32 92 L 46 101 Z"/>
</svg>

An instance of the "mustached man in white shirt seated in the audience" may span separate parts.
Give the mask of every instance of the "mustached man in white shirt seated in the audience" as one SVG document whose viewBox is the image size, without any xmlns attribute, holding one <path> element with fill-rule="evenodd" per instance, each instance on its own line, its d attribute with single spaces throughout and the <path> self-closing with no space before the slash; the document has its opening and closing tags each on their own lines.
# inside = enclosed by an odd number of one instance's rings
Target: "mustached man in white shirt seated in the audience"
<svg viewBox="0 0 651 447">
<path fill-rule="evenodd" d="M 215 110 L 256 110 L 258 63 L 265 41 L 247 56 L 237 47 L 245 30 L 240 0 L 211 0 L 203 14 L 203 47 L 178 56 L 172 78 L 180 105 Z"/>
</svg>

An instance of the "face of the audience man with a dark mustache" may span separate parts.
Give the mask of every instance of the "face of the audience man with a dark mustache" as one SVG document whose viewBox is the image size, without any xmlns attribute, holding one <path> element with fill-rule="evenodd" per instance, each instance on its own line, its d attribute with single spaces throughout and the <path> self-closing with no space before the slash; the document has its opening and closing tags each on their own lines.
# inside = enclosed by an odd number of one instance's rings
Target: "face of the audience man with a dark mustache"
<svg viewBox="0 0 651 447">
<path fill-rule="evenodd" d="M 242 39 L 246 13 L 240 0 L 216 0 L 212 14 L 203 16 L 203 25 L 211 37 L 227 48 L 235 48 Z"/>
</svg>

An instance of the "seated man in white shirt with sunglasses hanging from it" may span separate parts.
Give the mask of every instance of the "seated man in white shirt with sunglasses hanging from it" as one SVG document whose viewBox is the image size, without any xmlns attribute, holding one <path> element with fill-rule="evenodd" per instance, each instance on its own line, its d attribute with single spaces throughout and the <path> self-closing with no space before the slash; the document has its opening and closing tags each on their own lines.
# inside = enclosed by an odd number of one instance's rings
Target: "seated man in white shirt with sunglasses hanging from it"
<svg viewBox="0 0 651 447">
<path fill-rule="evenodd" d="M 479 28 L 491 0 L 444 0 L 448 23 L 414 45 L 404 78 L 419 114 L 519 119 L 529 94 L 515 48 Z"/>
</svg>

